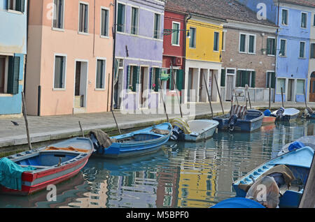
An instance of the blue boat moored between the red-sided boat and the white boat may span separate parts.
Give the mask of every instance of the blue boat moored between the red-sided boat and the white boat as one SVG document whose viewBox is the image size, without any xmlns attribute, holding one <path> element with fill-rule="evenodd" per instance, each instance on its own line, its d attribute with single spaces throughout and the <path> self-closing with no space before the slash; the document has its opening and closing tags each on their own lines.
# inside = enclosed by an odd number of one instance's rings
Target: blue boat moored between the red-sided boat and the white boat
<svg viewBox="0 0 315 222">
<path fill-rule="evenodd" d="M 169 123 L 151 126 L 132 133 L 117 135 L 111 138 L 113 142 L 108 148 L 99 145 L 94 135 L 90 138 L 96 151 L 93 156 L 104 158 L 127 158 L 158 151 L 172 135 L 172 125 Z"/>
</svg>

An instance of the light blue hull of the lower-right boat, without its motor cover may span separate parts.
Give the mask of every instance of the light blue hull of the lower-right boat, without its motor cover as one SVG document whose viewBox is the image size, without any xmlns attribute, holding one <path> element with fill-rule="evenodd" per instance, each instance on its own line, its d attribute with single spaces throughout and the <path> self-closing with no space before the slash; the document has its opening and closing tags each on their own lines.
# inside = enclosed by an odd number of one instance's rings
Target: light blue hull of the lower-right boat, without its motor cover
<svg viewBox="0 0 315 222">
<path fill-rule="evenodd" d="M 302 182 L 302 187 L 296 190 L 288 190 L 280 198 L 279 207 L 281 208 L 297 208 L 300 204 L 302 194 L 304 191 L 304 185 L 307 182 L 307 177 L 309 175 L 309 169 L 311 167 L 311 162 L 314 157 L 314 150 L 311 147 L 304 147 L 302 149 L 297 149 L 290 151 L 287 154 L 283 154 L 277 158 L 267 161 L 266 163 L 260 165 L 255 170 L 252 170 L 247 175 L 238 179 L 232 184 L 233 189 L 237 193 L 237 198 L 245 198 L 246 191 L 239 188 L 239 184 L 253 184 L 251 177 L 256 181 L 260 179 L 261 175 L 265 174 L 268 170 L 272 169 L 276 165 L 286 165 L 295 176 L 296 179 L 299 179 Z"/>
</svg>

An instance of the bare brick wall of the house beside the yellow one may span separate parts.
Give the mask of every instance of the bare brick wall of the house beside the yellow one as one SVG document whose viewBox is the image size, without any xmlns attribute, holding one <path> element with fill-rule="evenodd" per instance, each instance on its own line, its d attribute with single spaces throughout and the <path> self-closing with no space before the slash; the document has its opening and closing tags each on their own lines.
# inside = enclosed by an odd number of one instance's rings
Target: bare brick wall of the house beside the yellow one
<svg viewBox="0 0 315 222">
<path fill-rule="evenodd" d="M 223 52 L 223 68 L 251 69 L 256 72 L 255 87 L 264 88 L 267 71 L 275 71 L 275 57 L 262 54 L 262 49 L 267 48 L 267 37 L 275 37 L 274 34 L 234 29 L 225 27 L 225 51 Z M 239 36 L 242 34 L 255 34 L 255 54 L 239 53 Z"/>
</svg>

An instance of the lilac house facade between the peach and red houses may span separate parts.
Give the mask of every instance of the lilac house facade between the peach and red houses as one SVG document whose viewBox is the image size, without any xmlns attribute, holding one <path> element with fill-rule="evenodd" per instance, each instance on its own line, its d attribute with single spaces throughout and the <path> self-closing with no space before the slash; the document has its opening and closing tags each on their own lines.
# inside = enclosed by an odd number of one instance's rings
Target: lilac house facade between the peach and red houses
<svg viewBox="0 0 315 222">
<path fill-rule="evenodd" d="M 113 108 L 158 108 L 162 73 L 163 1 L 117 1 Z"/>
</svg>

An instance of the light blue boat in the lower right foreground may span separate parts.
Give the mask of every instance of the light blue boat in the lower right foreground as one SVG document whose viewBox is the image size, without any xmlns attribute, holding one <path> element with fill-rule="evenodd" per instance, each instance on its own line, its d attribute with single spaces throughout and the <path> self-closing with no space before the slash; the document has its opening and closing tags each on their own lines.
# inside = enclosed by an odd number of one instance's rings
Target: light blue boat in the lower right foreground
<svg viewBox="0 0 315 222">
<path fill-rule="evenodd" d="M 237 193 L 236 197 L 245 198 L 249 188 L 253 186 L 256 181 L 267 176 L 273 177 L 274 175 L 279 175 L 280 173 L 283 178 L 286 177 L 286 175 L 292 176 L 289 177 L 291 178 L 289 185 L 277 184 L 281 193 L 279 198 L 279 207 L 298 207 L 302 198 L 304 186 L 307 182 L 313 157 L 314 149 L 311 149 L 311 147 L 303 147 L 301 149 L 294 149 L 287 154 L 283 154 L 271 161 L 263 163 L 258 168 L 248 172 L 247 175 L 232 184 Z M 280 168 L 285 169 L 286 172 L 279 172 L 281 171 L 279 170 Z M 277 171 L 275 171 L 275 169 Z"/>
</svg>

